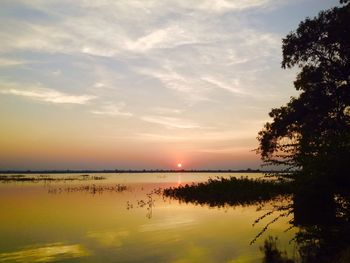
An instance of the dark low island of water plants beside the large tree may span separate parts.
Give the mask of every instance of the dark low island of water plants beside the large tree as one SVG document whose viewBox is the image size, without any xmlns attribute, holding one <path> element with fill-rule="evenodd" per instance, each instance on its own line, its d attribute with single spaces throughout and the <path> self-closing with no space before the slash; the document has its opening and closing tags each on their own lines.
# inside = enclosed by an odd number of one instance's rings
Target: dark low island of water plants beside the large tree
<svg viewBox="0 0 350 263">
<path fill-rule="evenodd" d="M 291 183 L 287 181 L 217 177 L 204 183 L 167 188 L 163 194 L 186 203 L 225 206 L 255 204 L 291 192 Z"/>
</svg>

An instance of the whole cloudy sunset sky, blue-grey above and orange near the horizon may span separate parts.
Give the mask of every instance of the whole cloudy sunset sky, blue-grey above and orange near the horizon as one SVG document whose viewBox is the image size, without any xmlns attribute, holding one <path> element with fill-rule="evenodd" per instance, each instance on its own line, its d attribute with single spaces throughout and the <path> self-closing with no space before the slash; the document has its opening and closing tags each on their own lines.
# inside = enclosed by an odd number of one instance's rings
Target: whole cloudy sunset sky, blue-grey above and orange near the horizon
<svg viewBox="0 0 350 263">
<path fill-rule="evenodd" d="M 0 5 L 0 170 L 244 169 L 297 95 L 282 38 L 338 1 Z"/>
</svg>

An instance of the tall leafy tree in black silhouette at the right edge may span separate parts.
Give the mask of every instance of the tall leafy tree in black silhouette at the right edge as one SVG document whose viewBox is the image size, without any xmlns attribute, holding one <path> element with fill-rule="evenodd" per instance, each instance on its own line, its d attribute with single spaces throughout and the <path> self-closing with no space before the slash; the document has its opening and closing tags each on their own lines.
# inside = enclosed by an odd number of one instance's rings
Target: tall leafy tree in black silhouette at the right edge
<svg viewBox="0 0 350 263">
<path fill-rule="evenodd" d="M 300 93 L 258 135 L 262 160 L 297 180 L 350 182 L 350 0 L 340 3 L 283 39 L 282 68 L 301 69 Z"/>
</svg>

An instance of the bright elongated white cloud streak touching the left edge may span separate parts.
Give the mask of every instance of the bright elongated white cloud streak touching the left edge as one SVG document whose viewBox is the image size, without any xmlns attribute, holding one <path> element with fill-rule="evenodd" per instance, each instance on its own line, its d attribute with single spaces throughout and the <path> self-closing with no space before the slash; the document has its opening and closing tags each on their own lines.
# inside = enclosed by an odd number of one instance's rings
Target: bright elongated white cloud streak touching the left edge
<svg viewBox="0 0 350 263">
<path fill-rule="evenodd" d="M 96 98 L 92 95 L 70 95 L 54 89 L 42 87 L 18 88 L 17 85 L 10 84 L 5 89 L 0 89 L 1 94 L 27 97 L 33 100 L 50 102 L 54 104 L 87 104 Z"/>
</svg>

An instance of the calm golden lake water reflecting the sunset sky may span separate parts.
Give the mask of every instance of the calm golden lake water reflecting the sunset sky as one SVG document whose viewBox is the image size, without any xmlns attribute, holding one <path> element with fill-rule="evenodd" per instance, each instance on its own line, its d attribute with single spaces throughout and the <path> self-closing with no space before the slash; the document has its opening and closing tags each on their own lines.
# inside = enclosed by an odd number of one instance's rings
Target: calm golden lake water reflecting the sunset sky
<svg viewBox="0 0 350 263">
<path fill-rule="evenodd" d="M 257 206 L 210 208 L 154 193 L 210 177 L 261 174 L 94 176 L 106 179 L 0 183 L 0 262 L 261 262 L 259 247 L 268 235 L 292 251 L 295 230 L 285 232 L 290 218 L 249 244 L 274 218 L 252 226 L 268 205 L 258 211 Z"/>
</svg>

